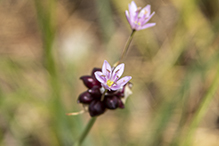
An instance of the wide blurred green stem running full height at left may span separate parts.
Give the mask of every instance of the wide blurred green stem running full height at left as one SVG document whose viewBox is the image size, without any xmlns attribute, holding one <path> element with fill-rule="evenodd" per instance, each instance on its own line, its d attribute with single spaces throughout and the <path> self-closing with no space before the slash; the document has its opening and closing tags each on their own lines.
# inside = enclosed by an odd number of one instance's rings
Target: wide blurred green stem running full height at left
<svg viewBox="0 0 219 146">
<path fill-rule="evenodd" d="M 35 0 L 35 7 L 39 26 L 42 33 L 44 65 L 48 71 L 48 82 L 51 89 L 51 101 L 49 109 L 53 113 L 53 125 L 56 139 L 60 145 L 69 145 L 72 140 L 68 138 L 65 110 L 61 101 L 61 85 L 58 78 L 57 66 L 53 52 L 53 42 L 56 34 L 56 0 L 41 1 Z M 69 140 L 70 139 L 70 140 Z"/>
</svg>

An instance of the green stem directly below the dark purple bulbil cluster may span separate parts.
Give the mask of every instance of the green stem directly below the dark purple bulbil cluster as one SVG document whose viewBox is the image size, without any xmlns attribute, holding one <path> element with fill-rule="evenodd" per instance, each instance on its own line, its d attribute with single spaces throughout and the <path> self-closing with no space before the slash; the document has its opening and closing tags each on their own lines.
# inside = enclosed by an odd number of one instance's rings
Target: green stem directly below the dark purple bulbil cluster
<svg viewBox="0 0 219 146">
<path fill-rule="evenodd" d="M 83 133 L 81 134 L 80 138 L 78 139 L 78 141 L 75 142 L 74 146 L 80 146 L 82 144 L 82 142 L 84 141 L 84 139 L 88 135 L 89 131 L 91 130 L 92 126 L 94 125 L 96 119 L 97 119 L 97 117 L 93 117 L 90 119 L 86 128 L 84 129 Z"/>
</svg>

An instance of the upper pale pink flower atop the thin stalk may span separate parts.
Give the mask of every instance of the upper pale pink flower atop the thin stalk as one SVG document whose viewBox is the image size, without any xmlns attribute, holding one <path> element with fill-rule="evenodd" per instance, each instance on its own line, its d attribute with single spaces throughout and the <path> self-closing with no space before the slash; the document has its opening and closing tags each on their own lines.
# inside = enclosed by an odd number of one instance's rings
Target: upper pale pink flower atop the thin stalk
<svg viewBox="0 0 219 146">
<path fill-rule="evenodd" d="M 147 23 L 151 17 L 155 14 L 151 14 L 151 6 L 138 8 L 134 1 L 129 4 L 129 11 L 125 11 L 126 18 L 133 30 L 142 30 L 156 25 L 156 23 Z"/>
</svg>

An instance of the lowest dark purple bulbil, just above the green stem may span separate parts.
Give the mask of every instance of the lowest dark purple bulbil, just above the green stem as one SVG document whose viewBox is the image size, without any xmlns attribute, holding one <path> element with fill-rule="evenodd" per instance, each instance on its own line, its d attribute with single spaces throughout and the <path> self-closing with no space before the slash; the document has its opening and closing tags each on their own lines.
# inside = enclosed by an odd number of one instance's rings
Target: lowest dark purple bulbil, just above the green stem
<svg viewBox="0 0 219 146">
<path fill-rule="evenodd" d="M 91 117 L 99 116 L 103 114 L 106 110 L 103 102 L 101 101 L 92 101 L 89 105 L 89 113 Z"/>
</svg>

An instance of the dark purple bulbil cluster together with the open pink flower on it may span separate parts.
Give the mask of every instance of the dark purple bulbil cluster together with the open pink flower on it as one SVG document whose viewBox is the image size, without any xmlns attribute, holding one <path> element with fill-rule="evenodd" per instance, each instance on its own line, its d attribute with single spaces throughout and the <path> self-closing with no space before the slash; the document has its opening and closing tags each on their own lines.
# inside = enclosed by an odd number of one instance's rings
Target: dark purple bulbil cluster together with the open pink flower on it
<svg viewBox="0 0 219 146">
<path fill-rule="evenodd" d="M 88 90 L 79 95 L 78 102 L 88 106 L 90 116 L 101 115 L 106 109 L 124 108 L 132 84 L 128 82 L 130 76 L 118 80 L 123 71 L 124 64 L 112 69 L 104 61 L 102 72 L 100 68 L 94 68 L 90 76 L 80 78 Z"/>
</svg>

